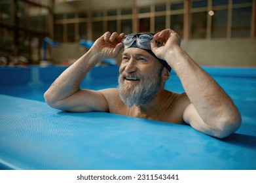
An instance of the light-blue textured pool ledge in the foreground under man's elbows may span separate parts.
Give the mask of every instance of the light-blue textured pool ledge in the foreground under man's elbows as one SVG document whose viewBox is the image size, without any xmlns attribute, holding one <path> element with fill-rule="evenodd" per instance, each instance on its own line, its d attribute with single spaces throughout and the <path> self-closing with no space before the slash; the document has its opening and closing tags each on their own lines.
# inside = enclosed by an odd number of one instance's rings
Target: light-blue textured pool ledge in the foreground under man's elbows
<svg viewBox="0 0 256 183">
<path fill-rule="evenodd" d="M 252 135 L 220 140 L 189 125 L 0 101 L 0 169 L 256 169 Z"/>
</svg>

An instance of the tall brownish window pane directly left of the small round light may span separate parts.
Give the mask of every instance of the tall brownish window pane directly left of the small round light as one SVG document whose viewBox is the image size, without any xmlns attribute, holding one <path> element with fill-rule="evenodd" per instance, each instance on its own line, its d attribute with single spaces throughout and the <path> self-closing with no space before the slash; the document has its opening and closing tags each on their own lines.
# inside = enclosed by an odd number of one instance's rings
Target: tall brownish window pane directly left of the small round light
<svg viewBox="0 0 256 183">
<path fill-rule="evenodd" d="M 206 38 L 208 12 L 196 12 L 192 14 L 192 38 Z"/>
</svg>

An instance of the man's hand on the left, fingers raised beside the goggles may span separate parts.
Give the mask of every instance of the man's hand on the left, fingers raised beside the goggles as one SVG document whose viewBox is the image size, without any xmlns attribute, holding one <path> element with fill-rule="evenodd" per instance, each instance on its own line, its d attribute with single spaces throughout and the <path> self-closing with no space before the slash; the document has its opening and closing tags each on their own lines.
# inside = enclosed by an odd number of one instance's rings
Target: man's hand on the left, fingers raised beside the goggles
<svg viewBox="0 0 256 183">
<path fill-rule="evenodd" d="M 122 39 L 124 33 L 106 32 L 94 42 L 91 50 L 99 60 L 116 58 L 123 47 Z"/>
</svg>

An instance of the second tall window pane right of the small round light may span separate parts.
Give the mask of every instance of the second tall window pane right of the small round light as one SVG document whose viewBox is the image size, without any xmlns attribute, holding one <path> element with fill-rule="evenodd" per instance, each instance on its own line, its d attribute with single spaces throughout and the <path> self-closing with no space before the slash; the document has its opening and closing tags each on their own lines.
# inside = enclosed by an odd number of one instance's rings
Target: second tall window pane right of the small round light
<svg viewBox="0 0 256 183">
<path fill-rule="evenodd" d="M 250 37 L 251 7 L 235 8 L 232 12 L 232 37 Z"/>
</svg>

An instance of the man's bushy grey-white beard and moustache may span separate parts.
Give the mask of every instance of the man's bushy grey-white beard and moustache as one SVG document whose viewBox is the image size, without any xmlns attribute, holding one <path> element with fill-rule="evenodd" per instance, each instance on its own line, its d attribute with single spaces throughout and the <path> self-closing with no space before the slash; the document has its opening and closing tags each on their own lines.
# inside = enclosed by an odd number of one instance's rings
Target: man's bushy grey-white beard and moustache
<svg viewBox="0 0 256 183">
<path fill-rule="evenodd" d="M 132 82 L 124 83 L 124 76 L 127 75 L 139 78 L 139 82 L 137 84 L 133 84 Z M 141 106 L 150 103 L 155 99 L 159 88 L 161 87 L 161 81 L 162 69 L 147 80 L 139 72 L 130 74 L 124 74 L 124 72 L 120 73 L 118 86 L 120 98 L 126 105 L 128 105 L 128 107 L 134 105 Z"/>
</svg>

